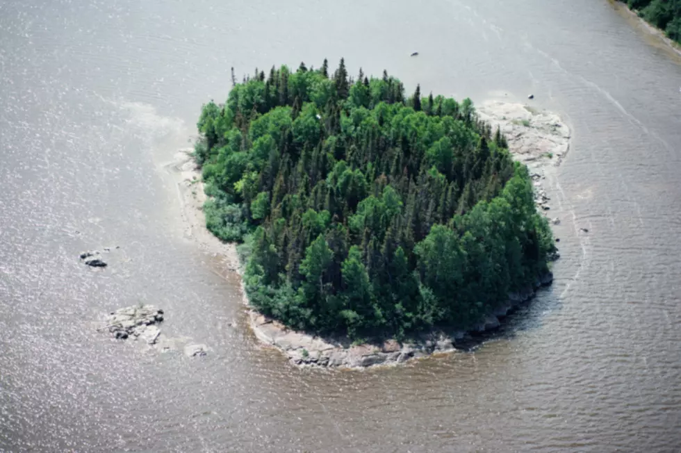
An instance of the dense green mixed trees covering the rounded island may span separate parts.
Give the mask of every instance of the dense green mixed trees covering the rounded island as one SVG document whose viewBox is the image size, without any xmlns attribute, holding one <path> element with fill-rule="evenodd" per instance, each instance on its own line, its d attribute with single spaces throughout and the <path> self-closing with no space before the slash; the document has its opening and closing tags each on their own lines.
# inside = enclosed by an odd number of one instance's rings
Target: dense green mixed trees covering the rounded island
<svg viewBox="0 0 681 453">
<path fill-rule="evenodd" d="M 245 242 L 251 303 L 290 327 L 470 327 L 555 249 L 524 165 L 469 99 L 304 64 L 203 107 L 208 228 Z"/>
</svg>

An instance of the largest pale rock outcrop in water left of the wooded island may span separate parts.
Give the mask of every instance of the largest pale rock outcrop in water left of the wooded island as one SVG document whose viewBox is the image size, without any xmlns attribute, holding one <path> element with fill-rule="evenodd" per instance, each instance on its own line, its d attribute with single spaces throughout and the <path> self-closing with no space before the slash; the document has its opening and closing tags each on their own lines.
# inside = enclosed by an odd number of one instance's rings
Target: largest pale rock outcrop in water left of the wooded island
<svg viewBox="0 0 681 453">
<path fill-rule="evenodd" d="M 133 305 L 110 313 L 106 330 L 120 340 L 134 338 L 154 345 L 161 335 L 161 329 L 157 325 L 161 322 L 163 310 L 160 308 L 153 305 Z"/>
</svg>

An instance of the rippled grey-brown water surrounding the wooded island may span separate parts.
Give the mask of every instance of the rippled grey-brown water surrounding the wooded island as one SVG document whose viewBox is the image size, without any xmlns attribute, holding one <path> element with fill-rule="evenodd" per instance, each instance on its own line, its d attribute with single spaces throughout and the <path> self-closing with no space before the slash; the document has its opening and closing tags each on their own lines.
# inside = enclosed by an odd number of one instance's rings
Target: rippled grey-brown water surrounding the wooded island
<svg viewBox="0 0 681 453">
<path fill-rule="evenodd" d="M 164 165 L 230 67 L 341 56 L 573 129 L 555 283 L 472 351 L 299 370 L 183 236 Z M 605 0 L 0 0 L 0 450 L 680 451 L 680 62 Z M 140 301 L 210 354 L 92 328 Z"/>
</svg>

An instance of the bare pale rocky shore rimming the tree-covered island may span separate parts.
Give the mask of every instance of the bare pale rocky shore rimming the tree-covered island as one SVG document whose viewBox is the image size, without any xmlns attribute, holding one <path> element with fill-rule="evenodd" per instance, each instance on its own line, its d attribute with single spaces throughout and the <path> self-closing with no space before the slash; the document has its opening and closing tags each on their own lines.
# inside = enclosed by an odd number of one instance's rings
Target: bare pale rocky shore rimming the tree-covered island
<svg viewBox="0 0 681 453">
<path fill-rule="evenodd" d="M 490 122 L 494 129 L 500 126 L 509 142 L 514 157 L 531 166 L 536 192 L 536 201 L 547 206 L 548 197 L 541 188 L 543 168 L 559 165 L 569 149 L 570 130 L 561 119 L 552 113 L 539 112 L 523 104 L 509 104 L 490 101 L 477 107 L 479 116 Z M 177 195 L 182 206 L 184 236 L 197 242 L 206 252 L 222 261 L 220 272 L 241 273 L 236 245 L 215 238 L 206 229 L 203 204 L 206 201 L 201 172 L 191 156 L 192 149 L 182 149 L 167 166 L 177 175 Z M 544 209 L 542 208 L 542 211 Z M 222 274 L 216 271 L 216 274 Z M 507 304 L 490 313 L 473 332 L 496 329 L 499 318 L 532 299 L 541 286 L 550 284 L 550 274 L 538 279 L 534 285 L 523 291 L 509 294 Z M 470 336 L 465 331 L 438 329 L 427 334 L 410 338 L 404 343 L 387 340 L 381 344 L 352 345 L 347 338 L 322 338 L 308 333 L 292 331 L 277 320 L 267 318 L 249 307 L 243 281 L 240 291 L 249 311 L 249 327 L 263 345 L 275 347 L 284 352 L 291 363 L 298 366 L 324 366 L 337 368 L 367 368 L 375 365 L 394 365 L 434 353 L 456 350 L 457 342 Z"/>
</svg>

